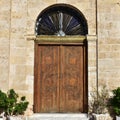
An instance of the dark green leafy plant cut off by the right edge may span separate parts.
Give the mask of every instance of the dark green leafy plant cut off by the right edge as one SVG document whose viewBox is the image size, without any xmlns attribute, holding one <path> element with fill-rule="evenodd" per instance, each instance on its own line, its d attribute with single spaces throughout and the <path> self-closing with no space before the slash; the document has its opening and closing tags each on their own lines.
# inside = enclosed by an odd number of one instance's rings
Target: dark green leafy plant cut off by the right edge
<svg viewBox="0 0 120 120">
<path fill-rule="evenodd" d="M 116 120 L 120 120 L 120 87 L 114 89 L 113 96 L 110 98 L 110 107 L 116 115 Z"/>
</svg>

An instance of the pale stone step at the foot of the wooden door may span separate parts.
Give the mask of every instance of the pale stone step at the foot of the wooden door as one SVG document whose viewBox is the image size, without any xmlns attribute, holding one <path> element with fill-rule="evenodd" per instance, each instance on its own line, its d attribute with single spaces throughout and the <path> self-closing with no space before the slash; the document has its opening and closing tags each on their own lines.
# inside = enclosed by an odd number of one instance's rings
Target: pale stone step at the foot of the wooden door
<svg viewBox="0 0 120 120">
<path fill-rule="evenodd" d="M 71 114 L 71 113 L 42 113 L 33 114 L 26 118 L 26 120 L 89 120 L 87 114 Z"/>
</svg>

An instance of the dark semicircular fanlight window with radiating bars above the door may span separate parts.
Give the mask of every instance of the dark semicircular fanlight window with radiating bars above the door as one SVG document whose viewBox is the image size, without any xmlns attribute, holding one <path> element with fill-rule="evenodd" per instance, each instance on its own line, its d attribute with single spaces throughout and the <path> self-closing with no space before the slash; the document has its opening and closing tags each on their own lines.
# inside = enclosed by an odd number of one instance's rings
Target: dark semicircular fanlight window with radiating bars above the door
<svg viewBox="0 0 120 120">
<path fill-rule="evenodd" d="M 87 22 L 82 13 L 66 5 L 45 9 L 37 18 L 36 35 L 86 35 Z"/>
</svg>

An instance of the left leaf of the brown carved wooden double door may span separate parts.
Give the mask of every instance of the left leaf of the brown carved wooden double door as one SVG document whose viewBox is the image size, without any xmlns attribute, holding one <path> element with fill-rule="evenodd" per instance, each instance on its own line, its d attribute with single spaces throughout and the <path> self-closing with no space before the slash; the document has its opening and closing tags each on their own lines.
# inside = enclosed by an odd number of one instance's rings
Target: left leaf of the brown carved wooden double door
<svg viewBox="0 0 120 120">
<path fill-rule="evenodd" d="M 39 46 L 40 112 L 59 111 L 59 47 Z M 39 85 L 38 85 L 39 86 Z"/>
</svg>

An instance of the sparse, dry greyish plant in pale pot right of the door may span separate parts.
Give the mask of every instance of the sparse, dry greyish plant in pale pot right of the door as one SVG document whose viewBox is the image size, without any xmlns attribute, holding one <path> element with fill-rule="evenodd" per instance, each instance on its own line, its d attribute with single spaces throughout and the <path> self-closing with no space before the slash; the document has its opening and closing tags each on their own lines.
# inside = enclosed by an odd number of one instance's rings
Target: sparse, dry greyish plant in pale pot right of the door
<svg viewBox="0 0 120 120">
<path fill-rule="evenodd" d="M 108 90 L 106 86 L 100 87 L 97 91 L 95 90 L 91 93 L 91 101 L 90 101 L 90 113 L 94 120 L 107 120 L 110 116 L 107 113 L 107 103 L 108 103 Z"/>
</svg>

